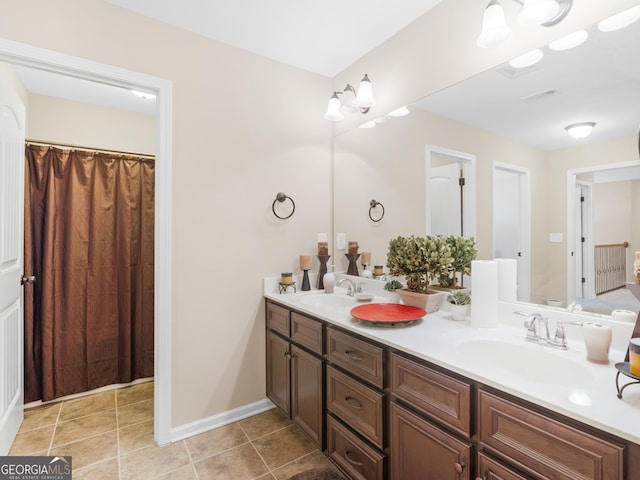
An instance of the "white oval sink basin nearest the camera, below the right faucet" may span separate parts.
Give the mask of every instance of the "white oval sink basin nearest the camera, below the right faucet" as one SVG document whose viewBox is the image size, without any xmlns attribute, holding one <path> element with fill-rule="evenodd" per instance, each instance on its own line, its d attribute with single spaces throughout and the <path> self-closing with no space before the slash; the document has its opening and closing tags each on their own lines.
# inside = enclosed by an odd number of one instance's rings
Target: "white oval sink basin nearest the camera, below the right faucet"
<svg viewBox="0 0 640 480">
<path fill-rule="evenodd" d="M 568 358 L 568 352 L 524 339 L 516 343 L 495 338 L 475 338 L 460 341 L 457 349 L 474 365 L 504 371 L 531 382 L 575 387 L 593 380 L 593 374 L 587 366 Z"/>
</svg>

